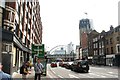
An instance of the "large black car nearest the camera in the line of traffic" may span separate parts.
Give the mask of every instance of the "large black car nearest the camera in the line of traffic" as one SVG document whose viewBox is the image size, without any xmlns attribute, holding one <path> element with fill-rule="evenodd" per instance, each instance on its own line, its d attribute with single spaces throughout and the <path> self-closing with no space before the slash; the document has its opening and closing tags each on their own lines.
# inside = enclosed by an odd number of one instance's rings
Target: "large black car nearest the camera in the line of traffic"
<svg viewBox="0 0 120 80">
<path fill-rule="evenodd" d="M 77 72 L 89 72 L 89 64 L 87 60 L 77 60 L 74 61 L 73 64 L 71 65 L 71 70 L 72 71 L 77 71 Z"/>
</svg>

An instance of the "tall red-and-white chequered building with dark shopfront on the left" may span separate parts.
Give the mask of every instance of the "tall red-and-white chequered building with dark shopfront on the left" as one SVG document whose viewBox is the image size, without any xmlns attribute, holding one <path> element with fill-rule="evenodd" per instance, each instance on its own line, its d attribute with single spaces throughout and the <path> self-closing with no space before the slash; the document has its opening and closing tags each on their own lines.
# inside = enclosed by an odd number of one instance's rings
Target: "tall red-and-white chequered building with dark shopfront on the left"
<svg viewBox="0 0 120 80">
<path fill-rule="evenodd" d="M 2 62 L 11 74 L 31 60 L 32 44 L 42 43 L 42 22 L 38 1 L 5 2 L 2 25 Z"/>
</svg>

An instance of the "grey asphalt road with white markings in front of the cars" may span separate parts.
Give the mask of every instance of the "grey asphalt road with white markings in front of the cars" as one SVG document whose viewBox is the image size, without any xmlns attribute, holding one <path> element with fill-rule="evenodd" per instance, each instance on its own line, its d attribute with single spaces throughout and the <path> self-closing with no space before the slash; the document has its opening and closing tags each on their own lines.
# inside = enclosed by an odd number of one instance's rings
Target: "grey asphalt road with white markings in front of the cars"
<svg viewBox="0 0 120 80">
<path fill-rule="evenodd" d="M 99 67 L 99 66 L 90 66 L 89 73 L 78 73 L 71 71 L 63 67 L 54 67 L 51 68 L 50 64 L 47 65 L 48 72 L 47 75 L 49 78 L 118 78 L 118 69 L 113 67 Z M 111 79 L 111 80 L 112 80 Z M 114 80 L 114 79 L 113 79 Z"/>
</svg>

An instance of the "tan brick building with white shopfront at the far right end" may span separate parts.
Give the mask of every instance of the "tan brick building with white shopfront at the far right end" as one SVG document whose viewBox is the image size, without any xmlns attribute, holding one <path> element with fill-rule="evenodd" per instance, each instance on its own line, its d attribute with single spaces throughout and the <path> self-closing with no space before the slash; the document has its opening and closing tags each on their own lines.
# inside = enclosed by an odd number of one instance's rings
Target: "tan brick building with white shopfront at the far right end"
<svg viewBox="0 0 120 80">
<path fill-rule="evenodd" d="M 106 33 L 106 65 L 117 65 L 117 56 L 120 53 L 120 26 L 110 27 Z"/>
</svg>

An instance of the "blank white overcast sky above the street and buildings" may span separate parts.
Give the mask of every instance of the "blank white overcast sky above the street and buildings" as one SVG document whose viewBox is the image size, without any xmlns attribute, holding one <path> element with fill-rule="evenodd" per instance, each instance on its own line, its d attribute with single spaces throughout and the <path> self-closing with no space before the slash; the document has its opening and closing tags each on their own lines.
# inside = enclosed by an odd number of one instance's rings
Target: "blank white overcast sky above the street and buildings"
<svg viewBox="0 0 120 80">
<path fill-rule="evenodd" d="M 118 25 L 119 0 L 39 0 L 43 26 L 42 43 L 47 50 L 72 42 L 79 45 L 79 21 L 89 18 L 96 31 Z M 85 15 L 87 13 L 87 15 Z"/>
</svg>

